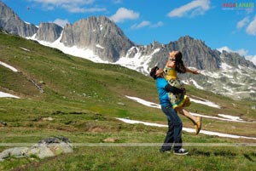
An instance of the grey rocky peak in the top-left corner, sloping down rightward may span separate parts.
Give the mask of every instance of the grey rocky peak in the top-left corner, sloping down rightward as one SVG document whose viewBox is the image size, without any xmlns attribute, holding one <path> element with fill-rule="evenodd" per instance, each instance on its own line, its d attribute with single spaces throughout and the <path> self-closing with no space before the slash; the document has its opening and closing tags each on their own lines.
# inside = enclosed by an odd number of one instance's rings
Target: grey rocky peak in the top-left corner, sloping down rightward
<svg viewBox="0 0 256 171">
<path fill-rule="evenodd" d="M 20 20 L 20 17 L 2 1 L 0 1 L 0 28 L 20 37 L 32 37 L 38 31 L 36 26 Z"/>
</svg>

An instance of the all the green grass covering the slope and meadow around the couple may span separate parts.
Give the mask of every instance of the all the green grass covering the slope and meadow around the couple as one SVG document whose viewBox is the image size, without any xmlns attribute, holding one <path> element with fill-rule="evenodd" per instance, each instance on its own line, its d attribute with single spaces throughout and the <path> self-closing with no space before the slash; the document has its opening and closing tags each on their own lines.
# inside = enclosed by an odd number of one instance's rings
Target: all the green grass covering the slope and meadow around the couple
<svg viewBox="0 0 256 171">
<path fill-rule="evenodd" d="M 29 49 L 27 52 L 22 48 Z M 140 105 L 125 95 L 158 103 L 154 80 L 122 66 L 96 64 L 63 54 L 33 41 L 0 33 L 0 91 L 21 99 L 0 98 L 0 143 L 32 145 L 50 136 L 66 136 L 76 146 L 72 154 L 38 159 L 9 158 L 0 170 L 253 170 L 256 151 L 248 146 L 207 146 L 208 143 L 255 143 L 183 132 L 189 156 L 159 152 L 166 128 L 121 123 L 113 117 L 130 117 L 166 124 L 160 109 Z M 44 88 L 40 93 L 30 80 Z M 227 114 L 255 121 L 255 105 L 187 87 L 193 98 L 210 100 L 221 109 L 192 103 L 187 110 L 207 116 Z M 47 120 L 47 118 L 52 120 Z M 194 128 L 185 117 L 183 126 Z M 255 137 L 255 123 L 232 123 L 203 118 L 204 130 Z M 107 138 L 116 142 L 106 144 Z M 84 145 L 82 145 L 84 143 Z M 88 143 L 95 144 L 90 146 Z M 138 143 L 135 145 L 134 143 Z M 149 145 L 147 145 L 147 143 Z M 122 145 L 128 144 L 128 146 Z M 102 145 L 102 146 L 101 146 Z M 106 145 L 106 146 L 104 146 Z M 131 146 L 129 146 L 131 145 Z M 142 146 L 141 146 L 142 145 Z M 0 151 L 11 146 L 0 145 Z"/>
</svg>

